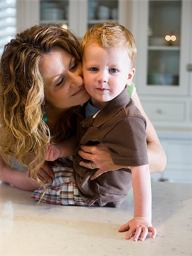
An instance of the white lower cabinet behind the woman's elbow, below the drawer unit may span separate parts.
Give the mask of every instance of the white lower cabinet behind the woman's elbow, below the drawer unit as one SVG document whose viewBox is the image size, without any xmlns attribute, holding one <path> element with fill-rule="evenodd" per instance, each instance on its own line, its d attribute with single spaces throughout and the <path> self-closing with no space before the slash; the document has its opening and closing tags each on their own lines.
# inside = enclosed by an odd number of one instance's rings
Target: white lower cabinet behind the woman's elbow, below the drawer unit
<svg viewBox="0 0 192 256">
<path fill-rule="evenodd" d="M 174 130 L 157 131 L 166 152 L 168 163 L 161 174 L 152 174 L 153 180 L 192 183 L 192 133 Z"/>
</svg>

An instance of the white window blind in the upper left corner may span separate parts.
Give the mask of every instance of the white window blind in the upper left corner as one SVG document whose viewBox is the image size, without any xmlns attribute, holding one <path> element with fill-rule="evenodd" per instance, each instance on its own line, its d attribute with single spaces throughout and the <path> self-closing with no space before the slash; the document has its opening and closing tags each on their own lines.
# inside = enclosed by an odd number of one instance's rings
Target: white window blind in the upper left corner
<svg viewBox="0 0 192 256">
<path fill-rule="evenodd" d="M 16 0 L 0 0 L 0 56 L 16 34 Z"/>
</svg>

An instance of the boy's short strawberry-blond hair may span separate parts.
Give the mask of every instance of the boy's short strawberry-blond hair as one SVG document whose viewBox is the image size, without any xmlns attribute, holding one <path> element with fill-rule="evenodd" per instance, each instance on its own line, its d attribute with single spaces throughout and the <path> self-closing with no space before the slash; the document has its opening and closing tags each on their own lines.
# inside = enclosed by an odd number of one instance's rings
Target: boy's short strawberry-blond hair
<svg viewBox="0 0 192 256">
<path fill-rule="evenodd" d="M 89 28 L 82 38 L 81 56 L 84 56 L 85 46 L 98 43 L 103 47 L 125 47 L 131 59 L 132 68 L 135 64 L 136 45 L 132 33 L 124 26 L 114 22 L 95 24 Z"/>
</svg>

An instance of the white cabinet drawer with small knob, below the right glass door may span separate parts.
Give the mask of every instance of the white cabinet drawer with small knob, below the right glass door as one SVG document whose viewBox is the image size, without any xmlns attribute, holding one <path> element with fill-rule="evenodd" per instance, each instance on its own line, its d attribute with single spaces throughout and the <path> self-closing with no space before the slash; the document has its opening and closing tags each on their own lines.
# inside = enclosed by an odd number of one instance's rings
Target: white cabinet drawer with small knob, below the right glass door
<svg viewBox="0 0 192 256">
<path fill-rule="evenodd" d="M 183 121 L 185 118 L 184 102 L 142 101 L 149 118 L 154 121 Z"/>
</svg>

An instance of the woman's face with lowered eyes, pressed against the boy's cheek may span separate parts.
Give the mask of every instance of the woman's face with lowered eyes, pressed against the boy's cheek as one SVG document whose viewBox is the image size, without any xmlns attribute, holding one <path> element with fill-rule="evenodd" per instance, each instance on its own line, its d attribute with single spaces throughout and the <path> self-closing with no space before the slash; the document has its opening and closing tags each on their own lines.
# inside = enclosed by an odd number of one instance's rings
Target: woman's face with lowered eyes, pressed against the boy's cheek
<svg viewBox="0 0 192 256">
<path fill-rule="evenodd" d="M 46 104 L 55 110 L 64 110 L 89 100 L 82 80 L 81 62 L 55 47 L 41 57 L 40 73 L 44 79 Z"/>
</svg>

